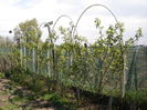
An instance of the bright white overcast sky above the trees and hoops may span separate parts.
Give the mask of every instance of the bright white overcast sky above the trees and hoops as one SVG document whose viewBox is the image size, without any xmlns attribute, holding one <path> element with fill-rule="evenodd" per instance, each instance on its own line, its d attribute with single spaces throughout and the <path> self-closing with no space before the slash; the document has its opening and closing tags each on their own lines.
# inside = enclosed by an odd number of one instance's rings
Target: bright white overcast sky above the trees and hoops
<svg viewBox="0 0 147 110">
<path fill-rule="evenodd" d="M 146 0 L 0 0 L 0 36 L 9 36 L 19 22 L 36 18 L 39 23 L 55 21 L 61 14 L 69 14 L 75 22 L 81 12 L 93 3 L 108 7 L 125 23 L 125 38 L 133 37 L 137 28 L 143 28 L 144 37 L 139 43 L 147 44 L 147 1 Z M 94 19 L 99 18 L 105 27 L 114 24 L 109 12 L 101 7 L 90 9 L 77 27 L 78 34 L 95 40 L 97 31 Z M 62 19 L 59 26 L 67 27 L 69 19 Z"/>
</svg>

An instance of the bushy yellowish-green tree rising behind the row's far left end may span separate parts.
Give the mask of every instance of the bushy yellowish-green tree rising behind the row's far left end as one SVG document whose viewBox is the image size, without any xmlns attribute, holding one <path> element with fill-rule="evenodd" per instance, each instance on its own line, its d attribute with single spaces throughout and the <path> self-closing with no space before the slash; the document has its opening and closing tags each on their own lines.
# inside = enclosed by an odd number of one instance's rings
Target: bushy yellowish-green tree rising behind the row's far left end
<svg viewBox="0 0 147 110">
<path fill-rule="evenodd" d="M 23 54 L 24 58 L 21 63 L 33 63 L 32 68 L 35 71 L 38 67 L 38 50 L 39 42 L 41 42 L 41 30 L 36 19 L 27 20 L 24 22 L 20 22 L 14 31 L 14 40 L 18 42 L 18 47 L 20 48 L 20 56 Z M 34 62 L 36 64 L 34 66 Z M 30 66 L 29 66 L 30 67 Z M 28 68 L 27 68 L 28 69 Z"/>
</svg>

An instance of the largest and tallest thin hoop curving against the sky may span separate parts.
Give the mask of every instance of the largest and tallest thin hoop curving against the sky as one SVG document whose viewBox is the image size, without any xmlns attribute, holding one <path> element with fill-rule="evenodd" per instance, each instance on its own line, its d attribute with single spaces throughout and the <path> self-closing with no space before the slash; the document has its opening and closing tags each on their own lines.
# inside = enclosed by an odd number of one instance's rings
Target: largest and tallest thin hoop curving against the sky
<svg viewBox="0 0 147 110">
<path fill-rule="evenodd" d="M 83 14 L 84 14 L 88 9 L 91 9 L 91 8 L 93 8 L 93 7 L 103 7 L 103 8 L 107 9 L 107 10 L 111 12 L 111 14 L 114 17 L 116 23 L 118 23 L 118 20 L 117 20 L 117 18 L 115 17 L 114 12 L 113 12 L 111 9 L 108 9 L 106 6 L 99 4 L 99 3 L 92 4 L 92 6 L 87 7 L 87 8 L 81 13 L 81 16 L 78 17 L 78 19 L 77 19 L 77 21 L 76 21 L 76 23 L 75 23 L 75 28 L 74 28 L 74 30 L 73 30 L 73 36 L 74 36 L 74 33 L 75 33 L 75 30 L 76 30 L 76 28 L 77 28 L 77 26 L 78 26 L 78 22 L 80 22 L 81 18 L 83 17 Z M 119 24 L 119 23 L 118 23 L 118 24 Z"/>
</svg>

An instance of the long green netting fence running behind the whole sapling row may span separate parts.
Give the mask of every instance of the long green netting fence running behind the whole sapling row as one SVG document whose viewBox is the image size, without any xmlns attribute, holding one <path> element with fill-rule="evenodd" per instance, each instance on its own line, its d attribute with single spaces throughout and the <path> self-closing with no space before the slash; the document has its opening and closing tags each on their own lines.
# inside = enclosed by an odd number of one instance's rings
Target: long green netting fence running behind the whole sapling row
<svg viewBox="0 0 147 110">
<path fill-rule="evenodd" d="M 56 48 L 61 47 L 57 46 Z M 4 49 L 1 50 L 3 51 Z M 104 92 L 122 90 L 124 83 L 122 81 L 124 77 L 123 69 L 117 70 L 111 67 L 112 69 L 108 69 L 105 76 L 102 74 L 101 69 L 106 67 L 106 62 L 102 59 L 94 58 L 94 48 L 91 47 L 85 50 L 83 47 L 77 49 L 76 52 L 65 51 L 64 49 L 62 51 L 62 48 L 59 50 L 54 52 L 53 62 L 52 50 L 34 49 L 33 51 L 33 48 L 24 49 L 24 47 L 22 47 L 21 50 L 18 49 L 20 52 L 19 61 L 21 62 L 22 60 L 21 67 L 29 71 L 49 76 L 64 84 L 76 86 L 93 92 L 97 92 L 101 89 Z M 1 52 L 1 54 L 3 52 Z M 81 56 L 75 56 L 76 53 Z M 111 53 L 107 57 L 109 57 L 111 60 Z M 120 59 L 124 60 L 123 58 Z M 147 89 L 147 47 L 136 46 L 129 49 L 126 70 L 126 91 Z M 120 73 L 122 76 L 119 76 Z"/>
</svg>

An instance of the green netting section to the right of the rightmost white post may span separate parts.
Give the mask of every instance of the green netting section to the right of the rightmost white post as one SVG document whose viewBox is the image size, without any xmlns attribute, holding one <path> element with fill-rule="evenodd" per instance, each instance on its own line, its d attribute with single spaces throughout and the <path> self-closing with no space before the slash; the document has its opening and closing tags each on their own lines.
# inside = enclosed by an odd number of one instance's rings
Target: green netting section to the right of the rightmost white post
<svg viewBox="0 0 147 110">
<path fill-rule="evenodd" d="M 127 90 L 147 89 L 147 47 L 130 49 L 127 59 Z"/>
</svg>

